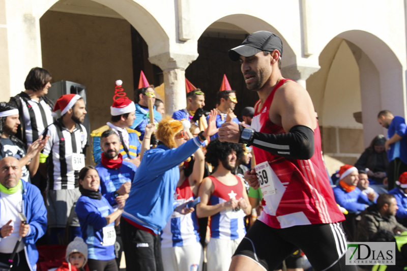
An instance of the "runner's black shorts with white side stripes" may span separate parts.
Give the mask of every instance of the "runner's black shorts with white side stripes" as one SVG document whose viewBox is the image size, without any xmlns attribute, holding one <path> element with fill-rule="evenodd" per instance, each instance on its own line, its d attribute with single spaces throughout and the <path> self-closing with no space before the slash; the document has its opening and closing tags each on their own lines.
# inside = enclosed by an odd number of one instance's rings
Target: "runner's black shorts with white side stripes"
<svg viewBox="0 0 407 271">
<path fill-rule="evenodd" d="M 357 270 L 355 265 L 345 265 L 346 240 L 340 223 L 276 229 L 256 220 L 235 255 L 249 257 L 265 269 L 275 270 L 297 248 L 305 253 L 314 270 Z"/>
</svg>

